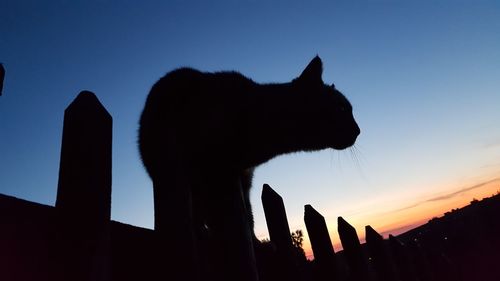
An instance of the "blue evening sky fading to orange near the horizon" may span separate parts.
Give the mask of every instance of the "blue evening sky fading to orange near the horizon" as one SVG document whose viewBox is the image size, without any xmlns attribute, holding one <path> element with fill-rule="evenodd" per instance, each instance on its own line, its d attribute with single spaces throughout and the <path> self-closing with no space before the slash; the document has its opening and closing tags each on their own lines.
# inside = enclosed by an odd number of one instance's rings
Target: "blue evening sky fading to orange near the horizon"
<svg viewBox="0 0 500 281">
<path fill-rule="evenodd" d="M 149 89 L 181 66 L 288 82 L 316 55 L 354 108 L 354 149 L 280 156 L 255 172 L 291 230 L 304 205 L 339 249 L 342 216 L 398 234 L 500 190 L 498 1 L 2 0 L 0 193 L 54 205 L 64 109 L 82 90 L 113 116 L 112 219 L 153 227 L 137 150 Z"/>
</svg>

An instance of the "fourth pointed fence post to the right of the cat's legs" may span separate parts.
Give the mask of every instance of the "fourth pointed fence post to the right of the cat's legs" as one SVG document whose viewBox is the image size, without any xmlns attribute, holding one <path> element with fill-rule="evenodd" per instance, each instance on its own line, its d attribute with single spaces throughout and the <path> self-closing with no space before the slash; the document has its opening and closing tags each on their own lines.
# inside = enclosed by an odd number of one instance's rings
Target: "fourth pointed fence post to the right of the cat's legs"
<svg viewBox="0 0 500 281">
<path fill-rule="evenodd" d="M 369 225 L 365 226 L 365 234 L 378 280 L 395 281 L 394 265 L 387 254 L 384 238 Z"/>
</svg>

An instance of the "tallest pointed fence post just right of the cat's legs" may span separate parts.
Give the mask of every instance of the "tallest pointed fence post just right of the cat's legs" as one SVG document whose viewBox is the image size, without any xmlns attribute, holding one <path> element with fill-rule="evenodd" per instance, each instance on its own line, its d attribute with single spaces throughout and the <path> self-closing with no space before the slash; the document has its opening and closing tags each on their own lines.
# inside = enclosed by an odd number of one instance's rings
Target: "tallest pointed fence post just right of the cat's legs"
<svg viewBox="0 0 500 281">
<path fill-rule="evenodd" d="M 283 198 L 268 184 L 264 184 L 261 199 L 269 237 L 276 246 L 276 254 L 280 260 L 279 267 L 282 268 L 281 280 L 297 280 L 299 275 Z"/>
</svg>

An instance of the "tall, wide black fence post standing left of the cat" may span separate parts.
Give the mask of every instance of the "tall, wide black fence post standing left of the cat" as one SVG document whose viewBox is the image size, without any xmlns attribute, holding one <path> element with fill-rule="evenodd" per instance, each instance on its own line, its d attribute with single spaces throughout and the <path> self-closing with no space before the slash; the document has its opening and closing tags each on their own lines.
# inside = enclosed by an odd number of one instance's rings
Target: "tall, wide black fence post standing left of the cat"
<svg viewBox="0 0 500 281">
<path fill-rule="evenodd" d="M 82 91 L 64 111 L 57 249 L 65 280 L 109 280 L 112 118 Z"/>
</svg>

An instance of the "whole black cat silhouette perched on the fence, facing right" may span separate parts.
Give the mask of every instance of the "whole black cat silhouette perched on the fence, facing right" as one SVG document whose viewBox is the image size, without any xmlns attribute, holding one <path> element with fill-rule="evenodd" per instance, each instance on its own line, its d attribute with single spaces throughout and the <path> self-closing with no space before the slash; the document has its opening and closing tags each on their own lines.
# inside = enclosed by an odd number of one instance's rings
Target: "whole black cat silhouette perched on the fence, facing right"
<svg viewBox="0 0 500 281">
<path fill-rule="evenodd" d="M 253 229 L 249 193 L 255 167 L 282 154 L 352 146 L 360 133 L 352 106 L 323 82 L 322 72 L 316 56 L 287 83 L 179 68 L 154 84 L 138 143 L 153 181 L 155 229 L 210 229 L 218 219 L 211 214 L 223 212 L 207 212 L 207 206 L 216 205 L 224 192 L 217 180 L 228 176 L 241 181 Z"/>
</svg>

